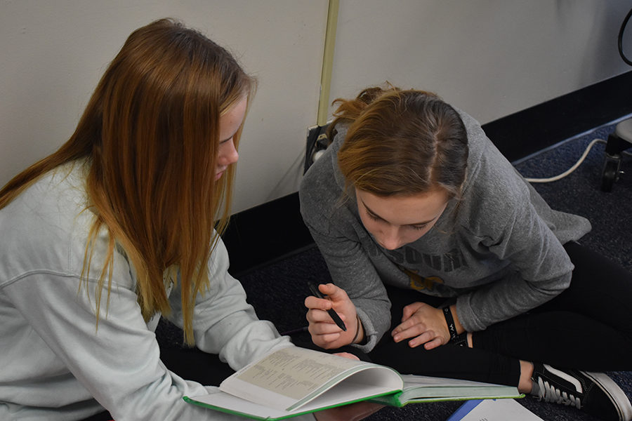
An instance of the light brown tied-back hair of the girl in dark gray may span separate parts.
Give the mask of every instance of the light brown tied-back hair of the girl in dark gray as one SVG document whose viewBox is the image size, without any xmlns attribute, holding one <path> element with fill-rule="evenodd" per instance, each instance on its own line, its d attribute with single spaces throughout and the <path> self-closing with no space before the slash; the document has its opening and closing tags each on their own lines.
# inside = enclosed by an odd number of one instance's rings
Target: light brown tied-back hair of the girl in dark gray
<svg viewBox="0 0 632 421">
<path fill-rule="evenodd" d="M 441 187 L 458 197 L 466 177 L 468 136 L 454 108 L 426 91 L 367 88 L 334 101 L 336 124 L 348 123 L 338 166 L 348 187 L 377 196 Z M 331 133 L 330 133 L 331 138 Z"/>
</svg>

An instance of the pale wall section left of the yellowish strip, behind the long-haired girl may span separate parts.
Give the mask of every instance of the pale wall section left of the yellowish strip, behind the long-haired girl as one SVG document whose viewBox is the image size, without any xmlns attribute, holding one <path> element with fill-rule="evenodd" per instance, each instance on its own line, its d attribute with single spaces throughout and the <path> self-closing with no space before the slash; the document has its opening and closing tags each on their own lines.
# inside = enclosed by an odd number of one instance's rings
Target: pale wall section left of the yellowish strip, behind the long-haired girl
<svg viewBox="0 0 632 421">
<path fill-rule="evenodd" d="M 0 1 L 0 185 L 70 137 L 133 29 L 170 16 L 227 47 L 259 81 L 233 210 L 298 188 L 301 166 L 287 173 L 316 121 L 327 0 Z"/>
</svg>

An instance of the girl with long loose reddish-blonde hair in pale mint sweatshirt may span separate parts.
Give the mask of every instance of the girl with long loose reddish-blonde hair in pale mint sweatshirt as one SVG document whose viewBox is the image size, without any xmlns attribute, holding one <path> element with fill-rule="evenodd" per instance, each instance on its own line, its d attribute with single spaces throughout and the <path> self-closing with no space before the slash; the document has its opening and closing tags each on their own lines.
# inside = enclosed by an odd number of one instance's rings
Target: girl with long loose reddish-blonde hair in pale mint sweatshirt
<svg viewBox="0 0 632 421">
<path fill-rule="evenodd" d="M 206 36 L 152 22 L 70 140 L 0 190 L 1 420 L 235 419 L 183 401 L 212 387 L 161 361 L 161 315 L 232 370 L 293 346 L 246 303 L 220 239 L 254 88 Z M 205 385 L 226 372 L 212 361 Z"/>
</svg>

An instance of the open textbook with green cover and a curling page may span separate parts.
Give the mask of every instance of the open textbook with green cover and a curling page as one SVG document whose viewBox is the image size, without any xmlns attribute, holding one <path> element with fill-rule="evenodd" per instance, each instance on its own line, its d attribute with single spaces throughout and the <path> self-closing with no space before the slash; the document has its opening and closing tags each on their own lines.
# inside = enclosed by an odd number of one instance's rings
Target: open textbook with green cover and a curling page
<svg viewBox="0 0 632 421">
<path fill-rule="evenodd" d="M 237 371 L 216 392 L 184 399 L 257 420 L 282 420 L 369 399 L 402 406 L 410 402 L 521 396 L 511 386 L 402 376 L 386 366 L 287 347 Z"/>
</svg>

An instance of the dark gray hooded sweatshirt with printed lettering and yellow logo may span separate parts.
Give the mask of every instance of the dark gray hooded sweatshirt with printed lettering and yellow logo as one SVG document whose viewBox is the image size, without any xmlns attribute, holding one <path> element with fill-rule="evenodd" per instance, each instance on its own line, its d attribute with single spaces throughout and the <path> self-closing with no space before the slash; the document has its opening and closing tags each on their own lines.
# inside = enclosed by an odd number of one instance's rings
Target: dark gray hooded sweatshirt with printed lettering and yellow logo
<svg viewBox="0 0 632 421">
<path fill-rule="evenodd" d="M 413 243 L 386 250 L 364 229 L 337 164 L 345 126 L 301 182 L 303 220 L 332 280 L 357 307 L 368 340 L 364 351 L 390 326 L 383 283 L 456 297 L 467 331 L 521 314 L 570 285 L 573 265 L 562 244 L 590 231 L 590 222 L 552 210 L 480 124 L 459 113 L 469 145 L 463 198 L 458 207 L 450 201 L 435 226 Z"/>
</svg>

